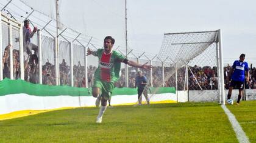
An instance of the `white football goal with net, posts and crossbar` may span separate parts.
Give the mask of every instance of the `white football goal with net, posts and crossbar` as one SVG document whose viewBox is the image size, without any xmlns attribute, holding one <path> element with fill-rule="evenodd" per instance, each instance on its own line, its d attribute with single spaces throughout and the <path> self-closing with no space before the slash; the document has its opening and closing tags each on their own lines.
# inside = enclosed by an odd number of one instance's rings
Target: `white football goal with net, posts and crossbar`
<svg viewBox="0 0 256 143">
<path fill-rule="evenodd" d="M 177 102 L 225 104 L 221 30 L 165 33 L 158 58 L 175 69 L 165 82 L 176 87 Z"/>
</svg>

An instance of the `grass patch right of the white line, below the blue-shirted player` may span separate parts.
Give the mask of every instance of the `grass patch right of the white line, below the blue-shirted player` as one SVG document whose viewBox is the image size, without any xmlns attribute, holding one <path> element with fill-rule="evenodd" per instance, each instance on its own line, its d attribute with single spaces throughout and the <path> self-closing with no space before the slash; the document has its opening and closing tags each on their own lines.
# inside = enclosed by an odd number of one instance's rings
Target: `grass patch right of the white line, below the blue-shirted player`
<svg viewBox="0 0 256 143">
<path fill-rule="evenodd" d="M 235 115 L 250 142 L 256 142 L 256 101 L 241 101 L 240 105 L 227 105 Z"/>
</svg>

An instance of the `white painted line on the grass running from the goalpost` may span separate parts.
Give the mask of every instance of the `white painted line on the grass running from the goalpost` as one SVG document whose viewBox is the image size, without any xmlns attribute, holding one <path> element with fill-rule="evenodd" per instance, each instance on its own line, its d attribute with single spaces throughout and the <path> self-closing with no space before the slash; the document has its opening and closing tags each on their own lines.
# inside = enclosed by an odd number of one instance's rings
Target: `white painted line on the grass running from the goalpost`
<svg viewBox="0 0 256 143">
<path fill-rule="evenodd" d="M 246 133 L 244 133 L 243 128 L 236 120 L 235 116 L 229 111 L 226 105 L 221 105 L 221 107 L 225 111 L 227 117 L 229 118 L 229 121 L 233 127 L 233 130 L 235 131 L 236 138 L 238 139 L 238 141 L 243 143 L 249 143 L 250 141 L 246 136 Z"/>
</svg>

